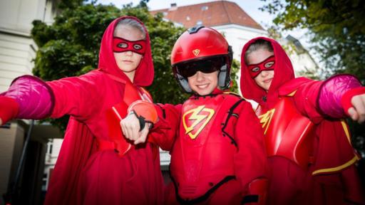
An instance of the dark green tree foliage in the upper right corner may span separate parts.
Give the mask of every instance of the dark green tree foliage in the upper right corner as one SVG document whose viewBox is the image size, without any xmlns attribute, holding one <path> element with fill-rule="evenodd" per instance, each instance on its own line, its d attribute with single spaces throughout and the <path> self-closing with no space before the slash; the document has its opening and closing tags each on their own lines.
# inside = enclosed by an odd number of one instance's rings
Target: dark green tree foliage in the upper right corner
<svg viewBox="0 0 365 205">
<path fill-rule="evenodd" d="M 308 28 L 314 48 L 324 61 L 323 77 L 352 73 L 365 80 L 365 1 L 262 0 L 262 10 L 277 14 L 274 23 L 284 30 Z"/>
</svg>

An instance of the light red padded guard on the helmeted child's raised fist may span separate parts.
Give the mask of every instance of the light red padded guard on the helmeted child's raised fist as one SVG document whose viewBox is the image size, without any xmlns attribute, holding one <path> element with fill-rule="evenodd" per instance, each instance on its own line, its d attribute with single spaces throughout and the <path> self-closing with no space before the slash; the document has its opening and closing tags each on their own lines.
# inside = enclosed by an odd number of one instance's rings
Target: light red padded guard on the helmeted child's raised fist
<svg viewBox="0 0 365 205">
<path fill-rule="evenodd" d="M 145 128 L 145 123 L 150 122 L 153 125 L 158 121 L 158 113 L 155 106 L 151 102 L 146 102 L 143 100 L 136 100 L 128 107 L 128 113 L 134 114 L 140 121 L 140 130 Z"/>
</svg>

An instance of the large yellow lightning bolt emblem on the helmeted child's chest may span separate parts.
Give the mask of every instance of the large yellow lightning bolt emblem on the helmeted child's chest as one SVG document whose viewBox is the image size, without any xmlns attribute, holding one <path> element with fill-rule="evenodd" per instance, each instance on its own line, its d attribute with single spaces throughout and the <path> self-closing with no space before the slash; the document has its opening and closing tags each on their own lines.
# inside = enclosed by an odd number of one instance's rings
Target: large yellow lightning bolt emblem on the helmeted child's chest
<svg viewBox="0 0 365 205">
<path fill-rule="evenodd" d="M 207 114 L 202 114 L 205 112 Z M 190 117 L 188 117 L 187 120 L 185 120 L 186 119 L 185 117 L 190 113 L 192 113 Z M 187 112 L 185 112 L 183 115 L 183 125 L 185 127 L 185 135 L 186 134 L 189 135 L 190 138 L 194 140 L 197 137 L 197 135 L 199 135 L 199 133 L 202 131 L 202 129 L 204 129 L 205 125 L 207 125 L 207 123 L 210 121 L 214 113 L 215 113 L 214 110 L 210 108 L 205 108 L 205 105 L 200 105 L 192 110 L 188 110 Z M 187 124 L 190 123 L 187 123 L 186 121 L 192 122 L 192 124 L 190 126 L 187 126 Z M 199 125 L 200 122 L 202 122 L 202 125 L 197 129 L 195 133 L 192 133 L 192 130 L 195 130 L 195 127 Z"/>
</svg>

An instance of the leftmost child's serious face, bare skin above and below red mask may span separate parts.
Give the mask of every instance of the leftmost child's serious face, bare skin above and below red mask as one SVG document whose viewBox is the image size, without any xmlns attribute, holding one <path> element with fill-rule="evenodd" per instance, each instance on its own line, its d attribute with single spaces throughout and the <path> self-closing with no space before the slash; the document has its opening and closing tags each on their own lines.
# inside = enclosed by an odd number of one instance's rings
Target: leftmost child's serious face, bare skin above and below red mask
<svg viewBox="0 0 365 205">
<path fill-rule="evenodd" d="M 138 41 L 143 40 L 143 33 L 138 30 L 138 28 L 121 26 L 120 29 L 116 31 L 115 37 L 124 38 L 128 41 Z M 133 74 L 134 76 L 135 69 L 140 64 L 140 60 L 143 56 L 132 51 L 125 51 L 122 53 L 114 52 L 114 58 L 120 70 L 123 70 L 123 72 L 128 76 L 130 74 Z"/>
</svg>

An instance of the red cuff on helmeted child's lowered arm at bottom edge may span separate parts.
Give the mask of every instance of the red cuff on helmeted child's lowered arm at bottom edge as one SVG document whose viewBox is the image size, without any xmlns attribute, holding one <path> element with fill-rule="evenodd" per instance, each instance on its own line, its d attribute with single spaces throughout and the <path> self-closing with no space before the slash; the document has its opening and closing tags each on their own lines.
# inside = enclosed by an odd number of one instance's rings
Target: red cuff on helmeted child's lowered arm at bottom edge
<svg viewBox="0 0 365 205">
<path fill-rule="evenodd" d="M 269 182 L 267 179 L 255 179 L 248 184 L 248 193 L 243 197 L 241 204 L 266 204 L 267 189 Z"/>
</svg>

